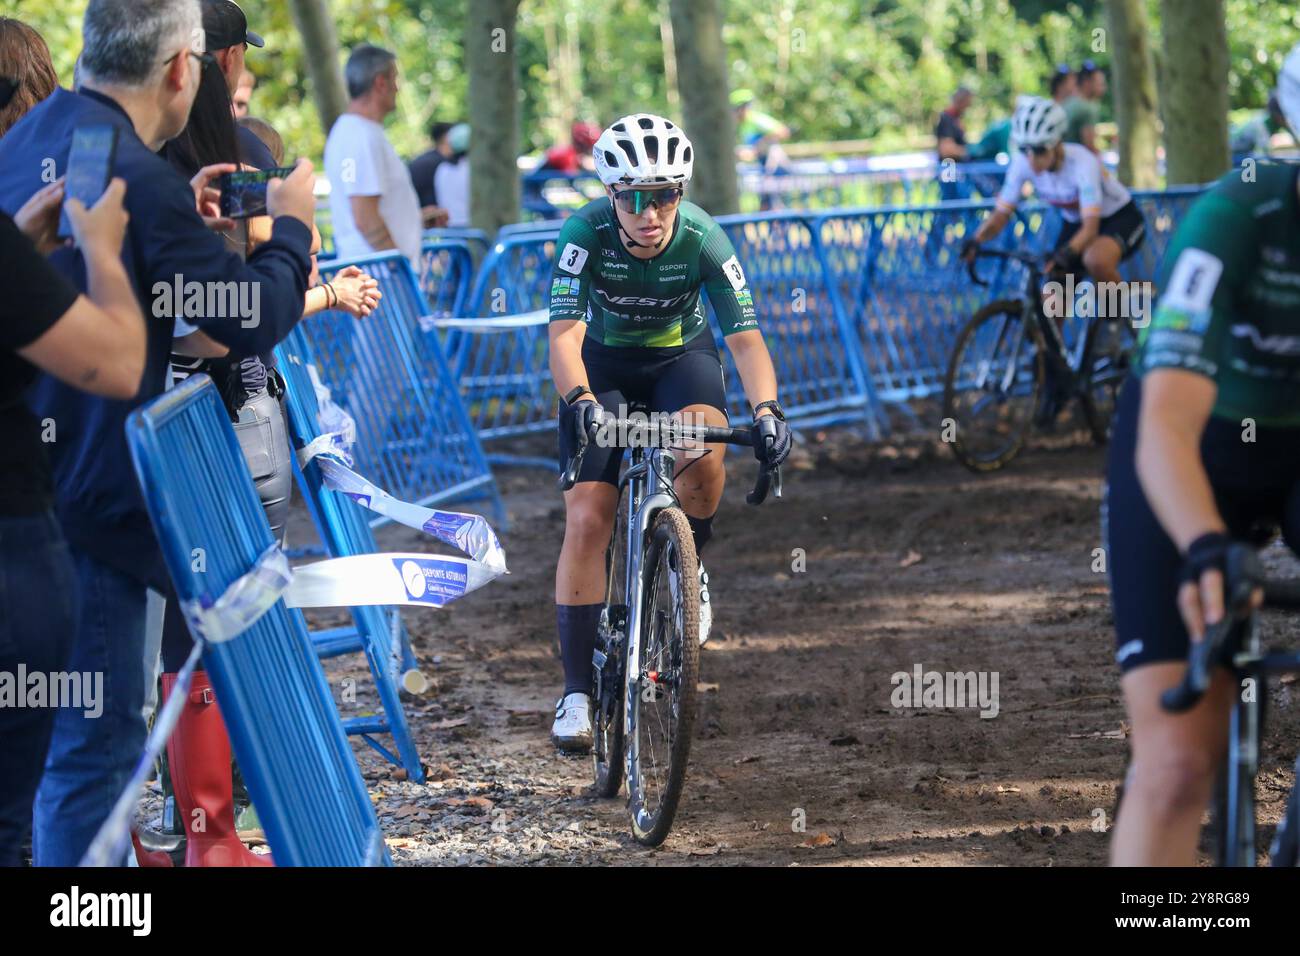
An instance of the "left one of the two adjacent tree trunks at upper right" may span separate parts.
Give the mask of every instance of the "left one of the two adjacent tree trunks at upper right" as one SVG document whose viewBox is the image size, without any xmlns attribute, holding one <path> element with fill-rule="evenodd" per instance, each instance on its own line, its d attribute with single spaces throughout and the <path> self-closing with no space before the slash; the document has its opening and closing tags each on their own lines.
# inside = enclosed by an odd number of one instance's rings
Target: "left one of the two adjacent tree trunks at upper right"
<svg viewBox="0 0 1300 956">
<path fill-rule="evenodd" d="M 1150 53 L 1147 0 L 1108 0 L 1110 61 L 1119 122 L 1119 181 L 1134 189 L 1157 189 L 1156 64 Z"/>
</svg>

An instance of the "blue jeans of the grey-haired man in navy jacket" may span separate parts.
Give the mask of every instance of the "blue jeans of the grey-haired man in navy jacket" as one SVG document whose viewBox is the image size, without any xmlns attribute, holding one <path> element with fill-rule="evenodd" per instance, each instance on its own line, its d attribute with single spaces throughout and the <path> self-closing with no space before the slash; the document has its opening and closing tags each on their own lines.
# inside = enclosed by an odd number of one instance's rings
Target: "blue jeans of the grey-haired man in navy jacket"
<svg viewBox="0 0 1300 956">
<path fill-rule="evenodd" d="M 144 750 L 147 588 L 73 550 L 81 588 L 68 670 L 103 674 L 103 713 L 62 708 L 36 791 L 31 849 L 36 866 L 75 866 Z"/>
</svg>

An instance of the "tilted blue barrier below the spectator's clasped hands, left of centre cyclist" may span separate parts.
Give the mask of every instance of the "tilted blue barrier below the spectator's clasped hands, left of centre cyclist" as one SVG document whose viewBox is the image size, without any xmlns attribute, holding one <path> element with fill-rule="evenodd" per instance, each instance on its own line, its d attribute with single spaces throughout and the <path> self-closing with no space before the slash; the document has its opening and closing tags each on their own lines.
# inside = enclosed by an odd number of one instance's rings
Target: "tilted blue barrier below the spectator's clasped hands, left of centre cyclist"
<svg viewBox="0 0 1300 956">
<path fill-rule="evenodd" d="M 299 328 L 335 401 L 356 419 L 358 466 L 390 494 L 417 505 L 482 499 L 498 524 L 504 507 L 438 337 L 422 334 L 429 307 L 396 252 L 338 260 L 358 265 L 384 299 L 368 319 L 324 312 Z M 376 518 L 372 527 L 385 519 Z"/>
</svg>

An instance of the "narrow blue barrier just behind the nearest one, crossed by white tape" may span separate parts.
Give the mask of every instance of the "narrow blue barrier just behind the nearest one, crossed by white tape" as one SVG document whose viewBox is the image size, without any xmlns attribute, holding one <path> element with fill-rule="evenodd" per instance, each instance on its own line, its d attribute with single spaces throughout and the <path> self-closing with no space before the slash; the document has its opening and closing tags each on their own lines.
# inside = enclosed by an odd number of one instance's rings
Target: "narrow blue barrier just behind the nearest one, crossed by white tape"
<svg viewBox="0 0 1300 956">
<path fill-rule="evenodd" d="M 302 326 L 281 342 L 276 354 L 287 385 L 285 405 L 290 438 L 295 449 L 302 449 L 320 434 L 316 390 L 307 371 L 312 355 Z M 295 473 L 316 529 L 332 558 L 374 554 L 378 550 L 370 533 L 369 512 L 346 496 L 328 489 L 322 483 L 320 466 L 308 462 L 306 468 L 298 467 L 295 459 Z M 385 758 L 404 767 L 411 780 L 424 783 L 424 766 L 398 692 L 402 685 L 408 689 L 419 688 L 424 676 L 411 652 L 406 627 L 396 607 L 367 605 L 350 610 L 352 627 L 313 631 L 312 644 L 321 657 L 364 652 L 386 717 L 347 718 L 343 721 L 343 730 L 360 735 Z M 374 734 L 391 734 L 396 754 L 374 740 Z"/>
</svg>

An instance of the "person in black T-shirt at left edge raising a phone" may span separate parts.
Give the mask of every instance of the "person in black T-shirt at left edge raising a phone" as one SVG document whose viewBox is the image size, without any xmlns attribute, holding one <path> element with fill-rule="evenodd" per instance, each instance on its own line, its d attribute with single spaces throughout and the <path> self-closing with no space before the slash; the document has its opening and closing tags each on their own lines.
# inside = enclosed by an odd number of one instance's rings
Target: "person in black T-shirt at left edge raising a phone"
<svg viewBox="0 0 1300 956">
<path fill-rule="evenodd" d="M 4 95 L 0 94 L 0 107 Z M 120 259 L 125 183 L 92 209 L 68 200 L 86 261 L 87 293 L 43 258 L 56 238 L 62 182 L 36 193 L 14 219 L 0 213 L 0 671 L 64 670 L 77 627 L 77 575 L 53 512 L 46 428 L 22 403 L 44 371 L 70 388 L 131 398 L 144 372 L 144 316 Z M 57 423 L 56 423 L 57 425 Z M 0 866 L 21 865 L 31 801 L 56 710 L 0 708 Z"/>
</svg>

